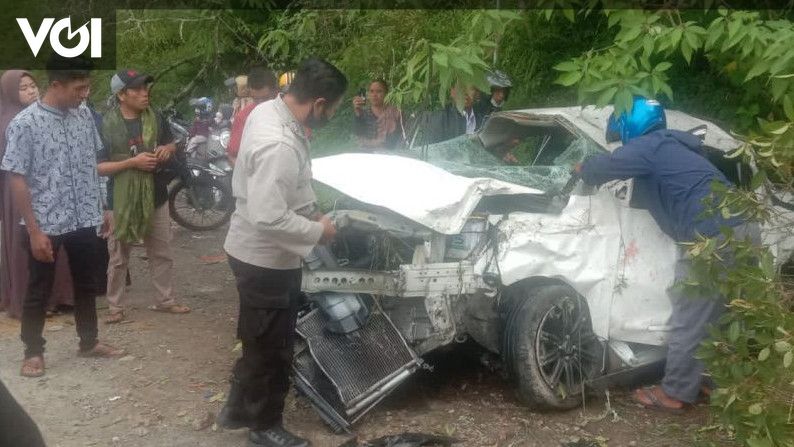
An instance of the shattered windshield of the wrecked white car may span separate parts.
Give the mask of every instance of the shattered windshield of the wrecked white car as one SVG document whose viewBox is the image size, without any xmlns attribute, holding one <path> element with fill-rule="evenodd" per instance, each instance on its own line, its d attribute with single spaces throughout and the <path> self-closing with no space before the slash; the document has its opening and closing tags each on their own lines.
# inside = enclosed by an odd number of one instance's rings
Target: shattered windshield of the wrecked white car
<svg viewBox="0 0 794 447">
<path fill-rule="evenodd" d="M 571 177 L 573 167 L 587 157 L 603 152 L 586 139 L 574 139 L 549 165 L 533 165 L 542 155 L 542 139 L 527 138 L 513 148 L 519 164 L 509 164 L 486 150 L 476 137 L 463 135 L 419 148 L 419 157 L 448 172 L 463 177 L 486 177 L 517 185 L 559 192 Z"/>
</svg>

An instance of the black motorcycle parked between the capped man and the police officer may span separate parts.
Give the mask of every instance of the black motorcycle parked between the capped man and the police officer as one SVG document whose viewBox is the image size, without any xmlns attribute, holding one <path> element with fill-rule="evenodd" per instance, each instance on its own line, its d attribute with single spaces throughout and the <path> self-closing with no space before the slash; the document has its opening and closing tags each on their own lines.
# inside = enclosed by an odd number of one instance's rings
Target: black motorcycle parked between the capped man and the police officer
<svg viewBox="0 0 794 447">
<path fill-rule="evenodd" d="M 227 172 L 212 159 L 191 156 L 186 150 L 189 132 L 184 123 L 173 113 L 167 120 L 177 142 L 176 157 L 170 166 L 176 176 L 168 193 L 171 218 L 193 231 L 216 229 L 228 222 L 234 212 L 231 169 Z"/>
</svg>

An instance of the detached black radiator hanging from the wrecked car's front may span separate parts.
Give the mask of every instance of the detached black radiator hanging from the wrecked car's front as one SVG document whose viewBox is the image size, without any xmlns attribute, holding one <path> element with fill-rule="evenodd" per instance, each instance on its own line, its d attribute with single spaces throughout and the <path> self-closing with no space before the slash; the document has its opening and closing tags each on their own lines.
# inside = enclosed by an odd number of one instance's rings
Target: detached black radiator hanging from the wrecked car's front
<svg viewBox="0 0 794 447">
<path fill-rule="evenodd" d="M 322 314 L 315 309 L 298 321 L 296 330 L 306 341 L 311 356 L 305 351 L 299 354 L 295 368 L 322 395 L 327 395 L 330 381 L 338 392 L 338 400 L 333 402 L 335 399 L 326 397 L 327 403 L 337 410 L 341 403 L 348 414 L 350 407 L 378 394 L 379 388 L 394 376 L 419 364 L 394 325 L 379 312 L 373 313 L 363 328 L 340 335 L 325 330 Z M 307 363 L 310 358 L 325 377 Z"/>
</svg>

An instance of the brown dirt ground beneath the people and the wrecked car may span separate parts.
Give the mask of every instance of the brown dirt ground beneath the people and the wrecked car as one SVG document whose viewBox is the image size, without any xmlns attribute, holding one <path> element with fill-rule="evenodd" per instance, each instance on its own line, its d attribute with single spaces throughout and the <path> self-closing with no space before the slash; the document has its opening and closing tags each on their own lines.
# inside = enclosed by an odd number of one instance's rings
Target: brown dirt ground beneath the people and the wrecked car
<svg viewBox="0 0 794 447">
<path fill-rule="evenodd" d="M 70 314 L 47 321 L 47 375 L 19 376 L 19 323 L 0 314 L 0 378 L 36 420 L 50 446 L 243 446 L 246 431 L 213 426 L 234 352 L 237 295 L 222 260 L 225 229 L 192 233 L 175 229 L 176 284 L 187 315 L 146 310 L 153 288 L 144 251 L 136 249 L 128 312 L 131 322 L 107 326 L 100 338 L 126 348 L 119 360 L 76 357 Z M 100 317 L 106 303 L 99 300 Z M 422 372 L 367 414 L 355 435 L 367 440 L 402 432 L 451 435 L 466 446 L 689 446 L 730 445 L 699 406 L 685 416 L 648 413 L 625 391 L 592 397 L 564 413 L 528 411 L 498 373 L 459 350 L 429 359 Z M 291 394 L 286 425 L 318 447 L 337 447 L 335 435 L 307 401 Z"/>
</svg>

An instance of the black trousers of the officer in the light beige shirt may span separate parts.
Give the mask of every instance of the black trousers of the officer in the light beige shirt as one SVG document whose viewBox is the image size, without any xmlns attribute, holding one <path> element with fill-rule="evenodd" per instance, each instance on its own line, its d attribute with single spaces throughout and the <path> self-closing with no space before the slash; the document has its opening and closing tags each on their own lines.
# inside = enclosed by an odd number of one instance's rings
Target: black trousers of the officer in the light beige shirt
<svg viewBox="0 0 794 447">
<path fill-rule="evenodd" d="M 237 336 L 243 354 L 232 370 L 227 406 L 252 430 L 281 423 L 295 344 L 301 270 L 273 270 L 229 256 L 237 281 Z"/>
</svg>

